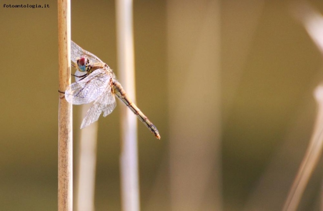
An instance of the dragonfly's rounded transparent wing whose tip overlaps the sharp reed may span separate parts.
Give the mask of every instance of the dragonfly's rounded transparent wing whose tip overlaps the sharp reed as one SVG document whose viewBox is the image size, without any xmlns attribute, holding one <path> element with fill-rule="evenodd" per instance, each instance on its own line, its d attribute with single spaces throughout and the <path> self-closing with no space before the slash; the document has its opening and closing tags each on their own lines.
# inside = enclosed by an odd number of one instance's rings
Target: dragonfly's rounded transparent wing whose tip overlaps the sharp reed
<svg viewBox="0 0 323 211">
<path fill-rule="evenodd" d="M 111 77 L 105 69 L 97 69 L 84 79 L 77 81 L 65 91 L 67 102 L 74 105 L 88 104 L 96 100 L 104 90 L 111 92 L 108 86 Z"/>
</svg>

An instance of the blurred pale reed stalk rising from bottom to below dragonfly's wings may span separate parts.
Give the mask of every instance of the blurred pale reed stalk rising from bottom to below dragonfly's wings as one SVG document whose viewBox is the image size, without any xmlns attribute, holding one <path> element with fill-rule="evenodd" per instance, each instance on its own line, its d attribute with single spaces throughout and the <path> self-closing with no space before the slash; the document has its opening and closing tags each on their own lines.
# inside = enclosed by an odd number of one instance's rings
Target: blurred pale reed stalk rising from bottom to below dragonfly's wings
<svg viewBox="0 0 323 211">
<path fill-rule="evenodd" d="M 85 116 L 91 104 L 81 106 L 81 115 Z M 96 145 L 98 122 L 80 130 L 77 172 L 77 211 L 94 211 Z"/>
</svg>

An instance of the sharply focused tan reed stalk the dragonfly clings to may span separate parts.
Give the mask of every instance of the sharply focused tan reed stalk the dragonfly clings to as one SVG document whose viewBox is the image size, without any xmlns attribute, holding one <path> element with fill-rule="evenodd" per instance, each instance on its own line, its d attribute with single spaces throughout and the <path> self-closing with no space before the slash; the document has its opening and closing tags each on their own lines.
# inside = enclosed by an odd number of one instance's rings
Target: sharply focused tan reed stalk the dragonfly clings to
<svg viewBox="0 0 323 211">
<path fill-rule="evenodd" d="M 58 0 L 59 90 L 71 84 L 71 3 Z M 58 210 L 73 211 L 72 105 L 59 96 L 58 112 Z"/>
</svg>

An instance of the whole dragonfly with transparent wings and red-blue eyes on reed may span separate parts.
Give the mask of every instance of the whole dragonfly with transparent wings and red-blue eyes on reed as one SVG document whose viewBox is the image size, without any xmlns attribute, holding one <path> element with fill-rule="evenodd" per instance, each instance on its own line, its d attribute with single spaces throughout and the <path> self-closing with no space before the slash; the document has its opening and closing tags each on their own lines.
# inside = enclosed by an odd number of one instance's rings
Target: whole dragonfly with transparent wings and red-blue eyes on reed
<svg viewBox="0 0 323 211">
<path fill-rule="evenodd" d="M 71 41 L 71 60 L 76 68 L 75 81 L 67 87 L 65 99 L 74 105 L 88 104 L 94 101 L 88 109 L 81 128 L 109 115 L 116 106 L 115 96 L 121 100 L 148 127 L 156 138 L 161 136 L 156 126 L 132 102 L 121 84 L 116 80 L 112 69 L 93 53 L 85 51 Z"/>
</svg>

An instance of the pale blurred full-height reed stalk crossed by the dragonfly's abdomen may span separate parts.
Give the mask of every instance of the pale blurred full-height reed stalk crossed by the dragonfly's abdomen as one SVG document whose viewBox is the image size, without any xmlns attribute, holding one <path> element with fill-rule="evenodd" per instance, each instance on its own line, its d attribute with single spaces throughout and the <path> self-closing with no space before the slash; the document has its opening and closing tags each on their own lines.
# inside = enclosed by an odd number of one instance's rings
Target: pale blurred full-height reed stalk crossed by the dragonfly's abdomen
<svg viewBox="0 0 323 211">
<path fill-rule="evenodd" d="M 116 0 L 118 75 L 135 102 L 132 0 Z M 126 106 L 121 109 L 121 200 L 123 211 L 139 211 L 137 119 Z"/>
</svg>

